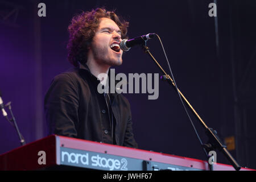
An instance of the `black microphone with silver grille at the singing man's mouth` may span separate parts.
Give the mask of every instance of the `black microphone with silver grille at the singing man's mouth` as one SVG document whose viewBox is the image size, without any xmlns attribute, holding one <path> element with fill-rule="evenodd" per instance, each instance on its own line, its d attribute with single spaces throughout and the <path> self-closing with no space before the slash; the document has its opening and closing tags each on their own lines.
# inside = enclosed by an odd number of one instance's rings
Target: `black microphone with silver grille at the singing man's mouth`
<svg viewBox="0 0 256 182">
<path fill-rule="evenodd" d="M 129 51 L 131 47 L 144 44 L 145 41 L 147 41 L 148 39 L 154 38 L 154 36 L 156 36 L 156 34 L 151 33 L 147 35 L 138 36 L 137 38 L 130 39 L 130 40 L 123 39 L 120 43 L 120 48 L 123 51 Z"/>
</svg>

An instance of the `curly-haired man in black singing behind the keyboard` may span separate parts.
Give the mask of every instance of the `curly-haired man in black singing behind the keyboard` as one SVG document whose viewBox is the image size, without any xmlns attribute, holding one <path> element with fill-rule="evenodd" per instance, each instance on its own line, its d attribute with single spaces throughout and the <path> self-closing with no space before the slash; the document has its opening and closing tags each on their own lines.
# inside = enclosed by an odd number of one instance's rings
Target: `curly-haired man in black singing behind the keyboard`
<svg viewBox="0 0 256 182">
<path fill-rule="evenodd" d="M 101 73 L 122 64 L 119 44 L 128 22 L 96 9 L 73 17 L 68 27 L 68 60 L 75 68 L 57 75 L 44 100 L 49 134 L 137 148 L 129 101 L 118 93 L 99 93 Z"/>
</svg>

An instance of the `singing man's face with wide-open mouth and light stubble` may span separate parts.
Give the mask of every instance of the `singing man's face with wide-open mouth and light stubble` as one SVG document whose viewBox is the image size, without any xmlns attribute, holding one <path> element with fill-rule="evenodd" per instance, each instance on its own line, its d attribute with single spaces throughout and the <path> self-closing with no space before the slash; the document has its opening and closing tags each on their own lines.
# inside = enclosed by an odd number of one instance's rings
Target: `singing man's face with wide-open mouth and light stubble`
<svg viewBox="0 0 256 182">
<path fill-rule="evenodd" d="M 121 30 L 117 24 L 112 19 L 101 18 L 90 47 L 92 57 L 97 64 L 110 67 L 121 65 L 123 53 L 119 48 L 121 40 Z"/>
</svg>

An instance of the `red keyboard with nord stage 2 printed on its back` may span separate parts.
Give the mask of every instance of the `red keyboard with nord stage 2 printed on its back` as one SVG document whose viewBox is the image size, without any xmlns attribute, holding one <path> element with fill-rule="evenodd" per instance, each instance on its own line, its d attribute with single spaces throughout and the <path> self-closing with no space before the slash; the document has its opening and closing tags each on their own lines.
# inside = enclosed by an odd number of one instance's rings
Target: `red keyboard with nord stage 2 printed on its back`
<svg viewBox="0 0 256 182">
<path fill-rule="evenodd" d="M 95 169 L 110 171 L 209 170 L 208 162 L 88 140 L 49 135 L 0 155 L 0 170 Z M 213 164 L 214 171 L 230 171 Z M 241 168 L 251 171 L 254 169 Z"/>
</svg>

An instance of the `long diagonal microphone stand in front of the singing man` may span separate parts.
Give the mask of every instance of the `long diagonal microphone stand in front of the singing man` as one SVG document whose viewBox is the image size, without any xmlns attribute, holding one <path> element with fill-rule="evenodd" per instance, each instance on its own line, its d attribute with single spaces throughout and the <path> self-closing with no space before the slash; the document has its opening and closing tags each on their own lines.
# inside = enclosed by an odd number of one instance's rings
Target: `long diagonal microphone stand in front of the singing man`
<svg viewBox="0 0 256 182">
<path fill-rule="evenodd" d="M 193 107 L 191 106 L 191 104 L 189 104 L 188 100 L 184 97 L 184 95 L 180 92 L 180 90 L 175 86 L 174 81 L 172 80 L 172 78 L 170 77 L 170 75 L 167 75 L 167 73 L 164 71 L 164 69 L 160 66 L 160 64 L 158 63 L 158 61 L 155 60 L 154 56 L 152 56 L 152 54 L 149 51 L 149 48 L 146 45 L 142 45 L 144 52 L 147 53 L 152 60 L 154 60 L 155 64 L 159 67 L 160 71 L 162 71 L 162 73 L 164 74 L 164 80 L 168 81 L 168 83 L 172 86 L 174 86 L 174 89 L 176 90 L 176 92 L 179 92 L 180 96 L 183 98 L 183 100 L 185 101 L 185 103 L 189 106 L 189 108 L 192 110 L 192 113 L 195 114 L 195 116 L 199 119 L 201 125 L 204 127 L 205 129 L 205 133 L 207 134 L 209 141 L 207 144 L 203 144 L 203 147 L 205 148 L 205 150 L 208 151 L 214 151 L 216 150 L 216 148 L 221 151 L 226 158 L 229 160 L 229 162 L 232 164 L 232 166 L 239 171 L 241 169 L 241 166 L 236 162 L 236 160 L 232 157 L 232 155 L 229 153 L 229 151 L 226 149 L 226 146 L 224 144 L 222 144 L 220 138 L 217 135 L 217 132 L 215 130 L 213 130 L 212 128 L 209 128 L 203 121 L 203 119 L 200 118 L 199 114 L 196 113 L 196 110 L 193 109 Z M 208 156 L 208 159 L 210 158 L 210 156 Z M 214 159 L 215 160 L 215 159 Z M 208 161 L 209 162 L 209 161 Z M 213 165 L 209 164 L 209 169 L 213 170 Z"/>
</svg>

